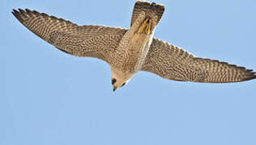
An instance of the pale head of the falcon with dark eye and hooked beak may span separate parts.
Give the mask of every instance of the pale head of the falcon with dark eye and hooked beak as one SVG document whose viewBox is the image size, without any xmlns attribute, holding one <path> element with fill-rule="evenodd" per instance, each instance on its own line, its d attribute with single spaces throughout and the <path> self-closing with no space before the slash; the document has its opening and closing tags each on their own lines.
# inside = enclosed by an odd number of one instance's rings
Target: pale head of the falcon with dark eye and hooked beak
<svg viewBox="0 0 256 145">
<path fill-rule="evenodd" d="M 133 76 L 134 76 L 134 73 L 121 73 L 121 72 L 112 70 L 113 91 L 126 85 L 130 81 L 131 77 Z"/>
</svg>

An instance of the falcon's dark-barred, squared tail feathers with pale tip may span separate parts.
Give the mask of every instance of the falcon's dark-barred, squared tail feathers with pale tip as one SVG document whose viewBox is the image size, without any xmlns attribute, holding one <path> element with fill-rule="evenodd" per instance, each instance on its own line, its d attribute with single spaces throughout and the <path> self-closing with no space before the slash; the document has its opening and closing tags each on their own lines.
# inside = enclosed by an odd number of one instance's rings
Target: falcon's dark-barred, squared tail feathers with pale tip
<svg viewBox="0 0 256 145">
<path fill-rule="evenodd" d="M 156 4 L 155 2 L 136 2 L 134 5 L 130 26 L 132 26 L 132 24 L 135 22 L 141 11 L 145 11 L 146 17 L 153 18 L 155 15 L 157 15 L 157 23 L 159 23 L 162 15 L 164 14 L 164 5 Z"/>
</svg>

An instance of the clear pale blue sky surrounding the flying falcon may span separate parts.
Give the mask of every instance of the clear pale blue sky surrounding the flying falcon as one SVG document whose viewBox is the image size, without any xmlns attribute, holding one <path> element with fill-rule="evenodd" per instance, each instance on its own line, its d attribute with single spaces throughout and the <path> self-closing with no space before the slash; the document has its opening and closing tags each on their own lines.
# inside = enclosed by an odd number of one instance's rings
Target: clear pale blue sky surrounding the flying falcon
<svg viewBox="0 0 256 145">
<path fill-rule="evenodd" d="M 256 80 L 200 84 L 141 72 L 113 93 L 107 63 L 58 51 L 11 14 L 29 8 L 128 28 L 134 2 L 0 2 L 1 145 L 256 144 Z M 157 38 L 256 70 L 255 0 L 156 2 L 166 7 Z"/>
</svg>

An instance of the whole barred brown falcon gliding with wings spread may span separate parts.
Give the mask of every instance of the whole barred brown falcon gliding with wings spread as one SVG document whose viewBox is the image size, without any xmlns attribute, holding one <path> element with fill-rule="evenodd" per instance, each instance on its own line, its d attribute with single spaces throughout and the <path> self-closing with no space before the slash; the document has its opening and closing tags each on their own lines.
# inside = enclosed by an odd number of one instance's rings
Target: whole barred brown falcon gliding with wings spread
<svg viewBox="0 0 256 145">
<path fill-rule="evenodd" d="M 138 71 L 175 81 L 228 83 L 256 78 L 246 69 L 219 60 L 195 57 L 153 37 L 164 14 L 164 5 L 138 1 L 130 29 L 83 25 L 39 13 L 13 10 L 12 14 L 34 34 L 62 52 L 105 60 L 111 68 L 113 91 L 126 85 Z"/>
</svg>

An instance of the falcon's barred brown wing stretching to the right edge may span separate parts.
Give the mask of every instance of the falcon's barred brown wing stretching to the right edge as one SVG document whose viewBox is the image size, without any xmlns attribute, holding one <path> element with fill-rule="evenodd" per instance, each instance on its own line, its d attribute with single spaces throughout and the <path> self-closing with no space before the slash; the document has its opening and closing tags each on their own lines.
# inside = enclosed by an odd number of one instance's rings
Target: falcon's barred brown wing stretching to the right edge
<svg viewBox="0 0 256 145">
<path fill-rule="evenodd" d="M 218 60 L 194 57 L 160 39 L 153 39 L 142 70 L 176 81 L 226 83 L 256 78 L 250 69 Z"/>
</svg>

